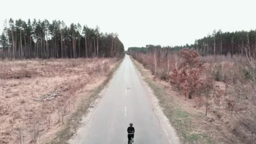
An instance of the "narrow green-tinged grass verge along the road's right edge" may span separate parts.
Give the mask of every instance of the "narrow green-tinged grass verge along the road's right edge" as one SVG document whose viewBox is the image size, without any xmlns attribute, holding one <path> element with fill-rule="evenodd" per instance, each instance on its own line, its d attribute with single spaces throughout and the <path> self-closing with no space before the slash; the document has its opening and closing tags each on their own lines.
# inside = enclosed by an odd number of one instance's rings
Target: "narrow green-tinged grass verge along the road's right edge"
<svg viewBox="0 0 256 144">
<path fill-rule="evenodd" d="M 214 144 L 213 140 L 205 132 L 198 131 L 198 126 L 194 119 L 195 111 L 188 112 L 187 109 L 182 107 L 192 107 L 192 104 L 184 101 L 184 96 L 179 96 L 179 93 L 171 91 L 171 86 L 168 82 L 154 79 L 154 75 L 151 75 L 151 72 L 145 69 L 142 64 L 137 61 L 133 62 L 159 99 L 164 114 L 175 128 L 181 142 L 185 144 Z M 183 103 L 180 103 L 181 101 Z"/>
</svg>

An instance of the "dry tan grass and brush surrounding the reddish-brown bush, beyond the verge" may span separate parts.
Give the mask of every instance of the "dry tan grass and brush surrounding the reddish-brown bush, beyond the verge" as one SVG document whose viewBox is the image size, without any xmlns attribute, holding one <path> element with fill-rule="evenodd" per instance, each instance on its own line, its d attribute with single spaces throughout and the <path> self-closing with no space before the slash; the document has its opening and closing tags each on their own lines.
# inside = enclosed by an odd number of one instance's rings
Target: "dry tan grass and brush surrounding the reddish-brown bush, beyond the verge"
<svg viewBox="0 0 256 144">
<path fill-rule="evenodd" d="M 184 61 L 179 58 L 179 53 L 157 50 L 146 53 L 133 52 L 131 56 L 150 70 L 152 79 L 166 87 L 182 109 L 193 113 L 192 115 L 198 115 L 195 125 L 200 126 L 201 130 L 206 130 L 206 133 L 212 133 L 210 137 L 213 137 L 216 143 L 232 144 L 242 141 L 251 144 L 256 141 L 255 59 L 249 62 L 245 55 L 230 54 L 200 56 L 200 61 L 205 67 L 201 77 L 211 75 L 215 80 L 213 91 L 207 95 L 210 96 L 209 117 L 205 117 L 205 95 L 198 93 L 192 101 L 184 101 L 179 88 L 168 83 L 173 69 Z M 220 96 L 216 93 L 222 94 Z M 211 123 L 207 121 L 209 118 Z"/>
</svg>

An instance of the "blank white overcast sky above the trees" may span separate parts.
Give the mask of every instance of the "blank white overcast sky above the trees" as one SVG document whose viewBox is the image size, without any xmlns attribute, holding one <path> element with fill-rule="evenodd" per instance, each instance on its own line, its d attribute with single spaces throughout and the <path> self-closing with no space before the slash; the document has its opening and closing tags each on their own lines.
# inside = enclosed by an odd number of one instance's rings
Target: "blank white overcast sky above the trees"
<svg viewBox="0 0 256 144">
<path fill-rule="evenodd" d="M 53 19 L 117 32 L 125 49 L 185 45 L 222 31 L 256 29 L 256 0 L 1 0 L 4 19 Z"/>
</svg>

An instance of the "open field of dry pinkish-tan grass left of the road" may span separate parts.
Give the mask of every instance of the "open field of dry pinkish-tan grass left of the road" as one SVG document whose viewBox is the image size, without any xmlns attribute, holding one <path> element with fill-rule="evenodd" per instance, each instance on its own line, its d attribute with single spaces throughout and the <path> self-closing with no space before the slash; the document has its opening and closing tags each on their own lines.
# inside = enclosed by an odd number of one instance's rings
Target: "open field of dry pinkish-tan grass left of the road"
<svg viewBox="0 0 256 144">
<path fill-rule="evenodd" d="M 0 61 L 0 144 L 50 141 L 115 61 Z"/>
</svg>

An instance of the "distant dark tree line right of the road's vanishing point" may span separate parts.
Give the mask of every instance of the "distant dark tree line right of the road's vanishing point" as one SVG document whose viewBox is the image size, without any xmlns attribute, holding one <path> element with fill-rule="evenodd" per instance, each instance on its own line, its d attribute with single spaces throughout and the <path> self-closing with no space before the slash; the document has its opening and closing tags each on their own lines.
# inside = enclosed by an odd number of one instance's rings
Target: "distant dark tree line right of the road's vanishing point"
<svg viewBox="0 0 256 144">
<path fill-rule="evenodd" d="M 205 55 L 228 55 L 245 54 L 243 47 L 248 45 L 251 49 L 252 56 L 256 58 L 256 30 L 222 32 L 221 30 L 214 30 L 201 39 L 195 40 L 194 44 L 165 46 L 161 45 L 146 45 L 146 47 L 139 48 L 140 52 L 147 52 L 149 49 L 163 48 L 171 49 L 173 51 L 180 51 L 183 48 L 196 49 L 202 56 Z M 136 50 L 138 47 L 128 48 L 129 51 Z M 149 48 L 149 49 L 147 49 Z"/>
</svg>

